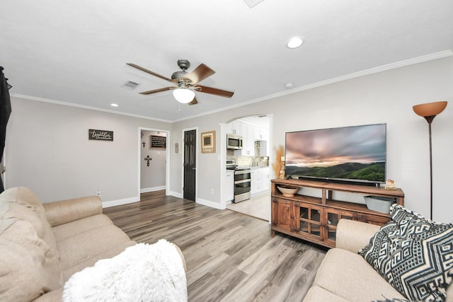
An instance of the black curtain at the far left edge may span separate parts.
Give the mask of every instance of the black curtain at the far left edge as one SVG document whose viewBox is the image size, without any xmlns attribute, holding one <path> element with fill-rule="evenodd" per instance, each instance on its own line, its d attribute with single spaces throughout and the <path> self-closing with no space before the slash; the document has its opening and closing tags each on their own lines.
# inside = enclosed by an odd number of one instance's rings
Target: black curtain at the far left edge
<svg viewBox="0 0 453 302">
<path fill-rule="evenodd" d="M 0 66 L 0 161 L 3 158 L 6 139 L 6 124 L 8 124 L 9 115 L 11 115 L 11 99 L 9 98 L 8 89 L 11 86 L 3 73 L 3 67 Z M 0 174 L 0 193 L 4 192 L 5 188 Z"/>
</svg>

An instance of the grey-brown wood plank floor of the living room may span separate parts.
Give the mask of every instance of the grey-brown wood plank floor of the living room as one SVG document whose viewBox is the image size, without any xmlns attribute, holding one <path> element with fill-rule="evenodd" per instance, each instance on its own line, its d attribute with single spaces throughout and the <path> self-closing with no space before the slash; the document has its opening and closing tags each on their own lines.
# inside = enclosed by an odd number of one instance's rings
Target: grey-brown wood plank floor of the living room
<svg viewBox="0 0 453 302">
<path fill-rule="evenodd" d="M 270 224 L 164 191 L 104 209 L 132 240 L 176 243 L 187 265 L 188 297 L 197 301 L 302 301 L 325 248 L 270 236 Z"/>
</svg>

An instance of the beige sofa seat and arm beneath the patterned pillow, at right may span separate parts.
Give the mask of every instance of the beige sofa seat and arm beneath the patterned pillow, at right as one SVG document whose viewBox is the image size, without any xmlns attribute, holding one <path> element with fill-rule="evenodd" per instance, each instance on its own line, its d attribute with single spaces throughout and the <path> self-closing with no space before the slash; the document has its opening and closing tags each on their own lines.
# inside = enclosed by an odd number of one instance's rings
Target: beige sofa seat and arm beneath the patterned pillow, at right
<svg viewBox="0 0 453 302">
<path fill-rule="evenodd" d="M 379 226 L 341 219 L 337 228 L 336 248 L 329 250 L 324 257 L 304 302 L 363 302 L 404 298 L 357 254 L 377 231 Z M 453 286 L 447 289 L 446 301 L 453 301 Z"/>
</svg>

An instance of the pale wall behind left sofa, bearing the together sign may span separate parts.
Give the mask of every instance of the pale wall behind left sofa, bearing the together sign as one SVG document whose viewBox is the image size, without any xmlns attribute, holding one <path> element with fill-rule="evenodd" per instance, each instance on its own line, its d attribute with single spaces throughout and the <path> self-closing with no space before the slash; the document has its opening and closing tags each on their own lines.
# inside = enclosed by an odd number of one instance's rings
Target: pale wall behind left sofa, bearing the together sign
<svg viewBox="0 0 453 302">
<path fill-rule="evenodd" d="M 6 187 L 26 186 L 42 202 L 96 194 L 103 202 L 137 201 L 139 127 L 171 124 L 66 105 L 11 98 Z M 88 141 L 88 129 L 113 141 Z"/>
</svg>

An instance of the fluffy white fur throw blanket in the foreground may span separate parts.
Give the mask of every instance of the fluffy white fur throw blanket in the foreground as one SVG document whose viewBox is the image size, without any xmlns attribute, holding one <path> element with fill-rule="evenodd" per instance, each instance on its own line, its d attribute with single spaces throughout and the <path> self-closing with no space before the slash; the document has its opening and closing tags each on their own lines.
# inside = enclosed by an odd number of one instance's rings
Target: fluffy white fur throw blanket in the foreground
<svg viewBox="0 0 453 302">
<path fill-rule="evenodd" d="M 183 260 L 173 243 L 137 243 L 64 284 L 63 301 L 187 301 Z"/>
</svg>

